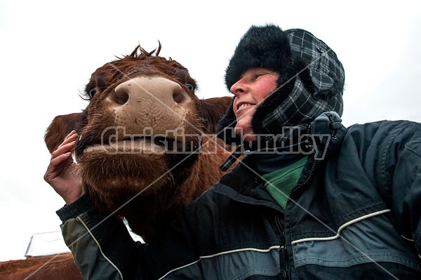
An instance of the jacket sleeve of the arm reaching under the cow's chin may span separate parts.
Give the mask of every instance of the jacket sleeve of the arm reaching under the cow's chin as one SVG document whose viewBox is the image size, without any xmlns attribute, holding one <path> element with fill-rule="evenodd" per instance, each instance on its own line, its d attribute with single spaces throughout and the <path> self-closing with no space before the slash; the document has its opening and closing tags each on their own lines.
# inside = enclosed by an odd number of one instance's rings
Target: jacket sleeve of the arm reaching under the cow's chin
<svg viewBox="0 0 421 280">
<path fill-rule="evenodd" d="M 98 213 L 87 196 L 57 214 L 83 279 L 159 279 L 196 259 L 182 217 L 156 240 L 141 244 L 133 241 L 121 218 Z M 200 279 L 201 272 L 194 273 Z"/>
</svg>

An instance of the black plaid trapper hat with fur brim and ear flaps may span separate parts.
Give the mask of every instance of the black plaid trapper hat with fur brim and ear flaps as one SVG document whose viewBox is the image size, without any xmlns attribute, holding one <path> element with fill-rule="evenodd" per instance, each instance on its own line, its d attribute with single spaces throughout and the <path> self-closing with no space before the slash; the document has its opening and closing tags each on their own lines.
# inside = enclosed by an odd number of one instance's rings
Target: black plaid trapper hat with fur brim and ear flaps
<svg viewBox="0 0 421 280">
<path fill-rule="evenodd" d="M 309 123 L 323 112 L 342 115 L 345 83 L 342 63 L 332 49 L 310 32 L 283 31 L 276 25 L 253 25 L 229 61 L 225 72 L 227 88 L 254 67 L 279 73 L 278 88 L 253 114 L 251 126 L 255 134 L 284 134 L 288 127 L 307 130 Z M 229 144 L 240 144 L 241 138 L 234 133 L 235 126 L 231 103 L 218 125 L 218 137 Z"/>
</svg>

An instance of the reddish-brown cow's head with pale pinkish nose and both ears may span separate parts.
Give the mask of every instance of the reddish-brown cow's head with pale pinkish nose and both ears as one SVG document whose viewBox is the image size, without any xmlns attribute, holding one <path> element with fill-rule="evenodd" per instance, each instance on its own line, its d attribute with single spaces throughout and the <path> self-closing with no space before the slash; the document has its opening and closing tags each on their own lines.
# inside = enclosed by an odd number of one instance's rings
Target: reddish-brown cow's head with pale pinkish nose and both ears
<svg viewBox="0 0 421 280">
<path fill-rule="evenodd" d="M 196 82 L 175 60 L 140 46 L 91 76 L 83 112 L 56 116 L 45 135 L 50 152 L 75 129 L 76 161 L 99 208 L 117 211 L 149 237 L 217 182 L 226 159 L 210 134 L 231 98 L 199 100 Z"/>
</svg>

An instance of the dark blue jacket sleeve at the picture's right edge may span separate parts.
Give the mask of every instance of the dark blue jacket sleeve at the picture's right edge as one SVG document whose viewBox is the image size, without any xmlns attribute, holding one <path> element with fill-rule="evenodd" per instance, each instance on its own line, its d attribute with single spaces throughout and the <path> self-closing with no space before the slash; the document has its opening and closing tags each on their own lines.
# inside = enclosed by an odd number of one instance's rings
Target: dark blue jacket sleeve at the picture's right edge
<svg viewBox="0 0 421 280">
<path fill-rule="evenodd" d="M 421 256 L 421 124 L 383 121 L 376 134 L 382 139 L 374 144 L 378 154 L 367 156 L 377 157 L 378 185 L 394 223 Z"/>
</svg>

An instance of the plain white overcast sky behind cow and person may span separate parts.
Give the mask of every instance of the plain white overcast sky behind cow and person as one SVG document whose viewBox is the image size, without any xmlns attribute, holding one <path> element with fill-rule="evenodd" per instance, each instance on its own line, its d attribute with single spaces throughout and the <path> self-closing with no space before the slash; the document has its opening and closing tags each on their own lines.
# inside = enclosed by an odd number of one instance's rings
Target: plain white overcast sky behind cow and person
<svg viewBox="0 0 421 280">
<path fill-rule="evenodd" d="M 340 4 L 339 4 L 340 3 Z M 345 67 L 343 123 L 421 121 L 419 1 L 0 1 L 0 260 L 24 258 L 32 234 L 60 230 L 64 201 L 44 182 L 44 132 L 79 112 L 91 73 L 137 44 L 173 58 L 199 98 L 223 77 L 252 24 L 312 32 Z"/>
</svg>

